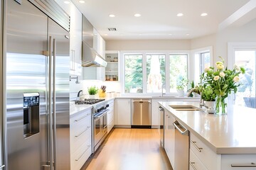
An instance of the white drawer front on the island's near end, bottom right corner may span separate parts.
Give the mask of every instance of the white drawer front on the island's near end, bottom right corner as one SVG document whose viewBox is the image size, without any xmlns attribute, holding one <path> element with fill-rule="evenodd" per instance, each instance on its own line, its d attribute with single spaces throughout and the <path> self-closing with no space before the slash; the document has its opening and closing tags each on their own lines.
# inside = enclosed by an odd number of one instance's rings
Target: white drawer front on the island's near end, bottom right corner
<svg viewBox="0 0 256 170">
<path fill-rule="evenodd" d="M 251 164 L 256 166 L 256 154 L 222 154 L 221 155 L 221 169 L 222 170 L 255 170 L 256 167 L 240 167 L 250 166 Z M 237 167 L 232 167 L 237 166 Z"/>
</svg>

